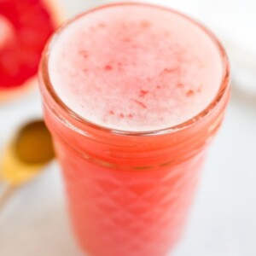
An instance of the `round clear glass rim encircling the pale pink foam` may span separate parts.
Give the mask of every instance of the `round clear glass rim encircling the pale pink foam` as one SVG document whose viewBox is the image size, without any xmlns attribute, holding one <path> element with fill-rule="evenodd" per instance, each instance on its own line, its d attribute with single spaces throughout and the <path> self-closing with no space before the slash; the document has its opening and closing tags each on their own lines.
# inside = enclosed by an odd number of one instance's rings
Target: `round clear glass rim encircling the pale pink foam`
<svg viewBox="0 0 256 256">
<path fill-rule="evenodd" d="M 75 113 L 71 108 L 67 107 L 65 102 L 63 102 L 61 98 L 56 94 L 54 90 L 54 86 L 49 79 L 49 53 L 50 53 L 51 47 L 55 43 L 55 40 L 58 38 L 58 35 L 69 24 L 73 23 L 73 21 L 78 20 L 80 17 L 84 15 L 89 15 L 90 13 L 101 10 L 101 9 L 106 9 L 114 6 L 122 6 L 122 5 L 148 6 L 156 9 L 163 9 L 163 10 L 172 12 L 174 14 L 180 15 L 186 20 L 189 20 L 190 22 L 195 24 L 195 26 L 199 26 L 203 32 L 206 32 L 207 36 L 211 38 L 212 42 L 216 45 L 218 49 L 218 53 L 223 63 L 223 74 L 221 79 L 221 85 L 219 86 L 217 95 L 212 99 L 212 102 L 210 102 L 206 108 L 204 108 L 200 113 L 196 114 L 193 118 L 178 125 L 173 125 L 160 130 L 153 130 L 153 131 L 124 131 L 124 130 L 112 129 L 109 127 L 96 125 L 95 123 L 90 122 L 90 120 L 84 119 L 78 113 Z M 188 15 L 183 15 L 177 10 L 166 8 L 160 5 L 151 4 L 151 3 L 108 3 L 106 5 L 102 5 L 95 9 L 90 9 L 88 11 L 85 11 L 84 13 L 75 16 L 73 19 L 68 20 L 53 34 L 51 38 L 49 38 L 49 41 L 44 48 L 39 71 L 40 71 L 40 75 L 42 76 L 42 79 L 44 80 L 45 89 L 49 92 L 49 96 L 52 98 L 55 104 L 57 104 L 65 113 L 67 113 L 70 117 L 72 117 L 72 119 L 75 119 L 81 125 L 89 126 L 92 129 L 103 131 L 113 135 L 122 135 L 122 136 L 136 136 L 136 137 L 158 136 L 158 135 L 170 134 L 173 132 L 177 132 L 177 131 L 181 131 L 183 129 L 189 128 L 190 126 L 195 125 L 195 123 L 197 123 L 200 119 L 203 119 L 208 114 L 212 113 L 212 111 L 214 111 L 214 109 L 218 106 L 218 103 L 221 102 L 221 100 L 224 98 L 226 91 L 229 90 L 229 87 L 230 87 L 230 64 L 229 64 L 228 56 L 225 52 L 225 49 L 223 45 L 219 42 L 218 38 L 206 26 L 190 18 Z"/>
</svg>

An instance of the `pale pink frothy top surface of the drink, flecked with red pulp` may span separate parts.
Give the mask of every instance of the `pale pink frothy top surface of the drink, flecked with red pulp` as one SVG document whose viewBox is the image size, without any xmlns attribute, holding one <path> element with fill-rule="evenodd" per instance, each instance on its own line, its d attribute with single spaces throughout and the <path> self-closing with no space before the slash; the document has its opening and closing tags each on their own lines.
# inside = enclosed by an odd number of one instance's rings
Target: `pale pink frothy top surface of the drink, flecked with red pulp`
<svg viewBox="0 0 256 256">
<path fill-rule="evenodd" d="M 81 16 L 55 40 L 49 77 L 84 119 L 123 131 L 181 124 L 217 95 L 217 46 L 182 15 L 116 5 Z"/>
</svg>

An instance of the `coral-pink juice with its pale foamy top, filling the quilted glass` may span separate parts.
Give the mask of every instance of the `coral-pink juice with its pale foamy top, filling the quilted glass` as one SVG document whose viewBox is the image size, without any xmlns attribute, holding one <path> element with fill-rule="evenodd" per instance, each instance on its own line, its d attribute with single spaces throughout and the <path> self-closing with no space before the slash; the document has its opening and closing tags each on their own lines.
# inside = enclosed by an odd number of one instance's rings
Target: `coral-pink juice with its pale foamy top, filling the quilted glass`
<svg viewBox="0 0 256 256">
<path fill-rule="evenodd" d="M 228 90 L 214 111 L 177 131 L 121 135 L 99 126 L 154 131 L 193 119 L 224 83 L 214 40 L 183 15 L 131 3 L 80 16 L 50 46 L 45 119 L 73 228 L 90 255 L 162 256 L 177 243 Z M 54 100 L 46 72 L 61 101 L 97 127 Z"/>
</svg>

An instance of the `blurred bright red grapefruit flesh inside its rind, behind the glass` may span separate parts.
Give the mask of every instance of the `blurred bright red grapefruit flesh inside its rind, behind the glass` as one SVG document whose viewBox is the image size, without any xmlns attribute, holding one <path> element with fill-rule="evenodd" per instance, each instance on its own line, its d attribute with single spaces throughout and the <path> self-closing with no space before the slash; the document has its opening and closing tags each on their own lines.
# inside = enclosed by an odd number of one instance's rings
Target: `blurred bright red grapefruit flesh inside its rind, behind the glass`
<svg viewBox="0 0 256 256">
<path fill-rule="evenodd" d="M 0 0 L 0 93 L 36 75 L 44 44 L 55 30 L 51 13 L 43 0 Z"/>
</svg>

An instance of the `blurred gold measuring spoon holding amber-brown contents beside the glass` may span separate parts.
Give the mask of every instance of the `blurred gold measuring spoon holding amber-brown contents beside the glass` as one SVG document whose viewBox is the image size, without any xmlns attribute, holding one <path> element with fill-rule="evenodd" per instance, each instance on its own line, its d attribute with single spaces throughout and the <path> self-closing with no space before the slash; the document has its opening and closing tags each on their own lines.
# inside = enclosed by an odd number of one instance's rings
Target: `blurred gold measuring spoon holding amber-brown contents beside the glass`
<svg viewBox="0 0 256 256">
<path fill-rule="evenodd" d="M 17 188 L 37 177 L 54 156 L 51 136 L 43 120 L 21 127 L 0 163 L 0 183 L 3 183 L 0 209 Z"/>
</svg>

